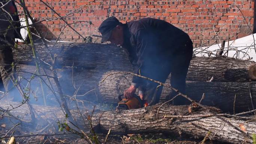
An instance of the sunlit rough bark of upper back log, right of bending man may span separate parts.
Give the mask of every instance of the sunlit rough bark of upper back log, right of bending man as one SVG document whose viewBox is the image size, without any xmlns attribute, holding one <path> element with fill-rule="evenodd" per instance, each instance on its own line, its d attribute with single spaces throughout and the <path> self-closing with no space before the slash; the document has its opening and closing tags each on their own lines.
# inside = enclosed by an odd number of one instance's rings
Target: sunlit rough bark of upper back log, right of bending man
<svg viewBox="0 0 256 144">
<path fill-rule="evenodd" d="M 187 80 L 249 82 L 248 70 L 255 62 L 223 57 L 196 57 L 191 60 Z"/>
</svg>

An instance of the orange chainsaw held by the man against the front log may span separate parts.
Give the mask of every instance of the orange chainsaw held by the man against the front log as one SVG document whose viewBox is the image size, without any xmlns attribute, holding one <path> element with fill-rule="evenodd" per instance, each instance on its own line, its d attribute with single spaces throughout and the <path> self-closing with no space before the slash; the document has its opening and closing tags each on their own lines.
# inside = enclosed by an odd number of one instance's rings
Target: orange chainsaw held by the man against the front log
<svg viewBox="0 0 256 144">
<path fill-rule="evenodd" d="M 146 100 L 141 100 L 138 95 L 135 95 L 131 99 L 124 98 L 124 94 L 118 96 L 120 102 L 118 102 L 118 106 L 116 110 L 132 110 L 137 108 L 143 108 L 148 106 Z"/>
</svg>

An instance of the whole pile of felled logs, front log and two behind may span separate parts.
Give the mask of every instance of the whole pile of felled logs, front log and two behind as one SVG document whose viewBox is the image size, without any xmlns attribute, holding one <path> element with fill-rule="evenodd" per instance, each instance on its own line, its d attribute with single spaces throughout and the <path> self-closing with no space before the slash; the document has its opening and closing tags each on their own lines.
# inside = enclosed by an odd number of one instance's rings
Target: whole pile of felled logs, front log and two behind
<svg viewBox="0 0 256 144">
<path fill-rule="evenodd" d="M 113 45 L 99 44 L 70 44 L 58 43 L 55 48 L 49 44 L 48 50 L 44 46 L 37 46 L 40 59 L 51 63 L 46 51 L 57 55 L 58 79 L 66 95 L 82 95 L 82 99 L 90 99 L 97 102 L 118 102 L 117 96 L 125 88 L 129 87 L 131 75 L 112 74 L 113 72 L 131 71 L 131 64 L 124 49 Z M 30 48 L 23 46 L 22 50 L 30 53 Z M 18 74 L 22 78 L 30 79 L 31 73 L 36 69 L 33 61 L 18 51 L 14 51 L 14 58 L 18 62 Z M 251 82 L 248 70 L 255 65 L 252 61 L 242 61 L 232 58 L 198 58 L 191 61 L 187 76 L 186 89 L 188 96 L 196 101 L 205 98 L 201 104 L 207 109 L 198 105 L 172 106 L 165 104 L 153 105 L 146 108 L 127 111 L 95 111 L 90 119 L 95 131 L 107 133 L 111 128 L 111 134 L 137 134 L 145 132 L 167 132 L 171 134 L 186 134 L 196 138 L 203 138 L 210 131 L 208 137 L 212 140 L 219 140 L 228 143 L 252 143 L 252 134 L 255 134 L 255 122 L 246 122 L 238 117 L 229 115 L 210 116 L 209 111 L 229 113 L 252 110 L 256 104 L 256 84 Z M 30 73 L 27 73 L 27 72 Z M 52 71 L 47 70 L 46 74 L 51 75 Z M 108 77 L 106 77 L 108 76 Z M 106 79 L 105 79 L 106 78 Z M 31 86 L 39 87 L 39 78 L 31 80 Z M 47 82 L 47 79 L 42 76 Z M 104 82 L 102 80 L 104 79 Z M 50 79 L 51 80 L 51 79 Z M 166 83 L 170 83 L 168 78 Z M 165 85 L 161 100 L 165 101 L 171 92 L 170 85 Z M 50 91 L 48 90 L 50 94 Z M 78 98 L 77 96 L 76 98 Z M 235 98 L 235 99 L 234 99 Z M 214 107 L 218 108 L 214 108 Z M 0 102 L 0 107 L 7 109 L 8 102 Z M 42 107 L 33 105 L 36 111 L 41 111 L 37 118 L 65 119 L 65 115 L 59 108 Z M 22 117 L 27 112 L 26 105 L 12 110 L 13 115 Z M 72 110 L 77 123 L 83 123 L 84 119 Z M 80 112 L 79 112 L 80 113 Z M 83 118 L 88 111 L 81 111 Z M 233 118 L 232 118 L 233 117 Z M 27 116 L 24 117 L 25 119 Z M 28 118 L 29 119 L 29 118 Z M 245 119 L 245 118 L 244 118 Z M 247 117 L 247 120 L 253 118 Z M 228 123 L 226 123 L 226 122 Z M 88 123 L 87 123 L 88 124 Z"/>
</svg>

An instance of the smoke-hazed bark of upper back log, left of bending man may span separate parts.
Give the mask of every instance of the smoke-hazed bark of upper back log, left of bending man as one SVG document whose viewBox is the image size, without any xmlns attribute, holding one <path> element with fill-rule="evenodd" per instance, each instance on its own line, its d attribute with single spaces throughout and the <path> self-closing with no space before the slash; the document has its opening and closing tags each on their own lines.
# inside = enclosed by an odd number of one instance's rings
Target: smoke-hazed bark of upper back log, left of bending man
<svg viewBox="0 0 256 144">
<path fill-rule="evenodd" d="M 130 70 L 127 53 L 124 48 L 115 45 L 101 45 L 88 43 L 54 43 L 48 44 L 49 50 L 44 45 L 36 45 L 39 58 L 51 64 L 49 52 L 57 55 L 56 67 L 76 67 L 79 69 L 118 69 Z M 23 52 L 32 54 L 30 47 L 19 46 Z M 31 64 L 34 62 L 18 50 L 13 50 L 14 60 L 20 64 Z"/>
</svg>

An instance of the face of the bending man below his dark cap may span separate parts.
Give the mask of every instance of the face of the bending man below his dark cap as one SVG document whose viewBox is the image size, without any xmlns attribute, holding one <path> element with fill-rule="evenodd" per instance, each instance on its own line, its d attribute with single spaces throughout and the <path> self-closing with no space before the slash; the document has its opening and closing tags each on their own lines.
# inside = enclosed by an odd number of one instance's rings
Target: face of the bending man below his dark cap
<svg viewBox="0 0 256 144">
<path fill-rule="evenodd" d="M 109 41 L 115 45 L 124 44 L 124 31 L 121 25 L 116 26 L 116 28 L 112 30 L 112 34 L 109 38 Z"/>
</svg>

